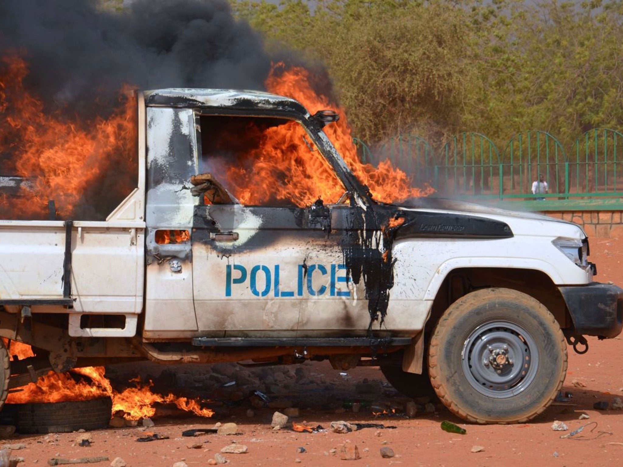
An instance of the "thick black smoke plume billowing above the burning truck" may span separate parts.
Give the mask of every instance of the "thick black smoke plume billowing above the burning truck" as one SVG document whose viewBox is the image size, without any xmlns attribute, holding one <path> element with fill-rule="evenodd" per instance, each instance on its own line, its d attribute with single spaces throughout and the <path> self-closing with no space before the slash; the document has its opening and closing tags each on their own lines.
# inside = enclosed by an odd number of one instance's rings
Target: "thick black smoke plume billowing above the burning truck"
<svg viewBox="0 0 623 467">
<path fill-rule="evenodd" d="M 224 0 L 135 0 L 127 11 L 93 0 L 0 2 L 0 55 L 19 52 L 27 88 L 46 111 L 112 108 L 123 84 L 262 90 L 270 57 Z"/>
</svg>

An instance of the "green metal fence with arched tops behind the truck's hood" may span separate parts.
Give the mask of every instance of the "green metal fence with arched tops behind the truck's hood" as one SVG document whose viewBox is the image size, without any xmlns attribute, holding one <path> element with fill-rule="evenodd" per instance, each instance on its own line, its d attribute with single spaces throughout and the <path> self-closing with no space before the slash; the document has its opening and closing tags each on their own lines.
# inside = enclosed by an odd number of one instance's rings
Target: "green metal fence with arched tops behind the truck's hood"
<svg viewBox="0 0 623 467">
<path fill-rule="evenodd" d="M 354 141 L 362 161 L 378 164 L 390 159 L 414 185 L 432 185 L 435 196 L 510 202 L 511 207 L 523 202 L 533 210 L 623 209 L 623 134 L 609 128 L 587 131 L 569 153 L 555 136 L 541 130 L 515 134 L 501 155 L 490 138 L 473 132 L 437 144 L 412 134 L 373 148 Z M 549 191 L 535 195 L 531 189 L 540 175 Z"/>
</svg>

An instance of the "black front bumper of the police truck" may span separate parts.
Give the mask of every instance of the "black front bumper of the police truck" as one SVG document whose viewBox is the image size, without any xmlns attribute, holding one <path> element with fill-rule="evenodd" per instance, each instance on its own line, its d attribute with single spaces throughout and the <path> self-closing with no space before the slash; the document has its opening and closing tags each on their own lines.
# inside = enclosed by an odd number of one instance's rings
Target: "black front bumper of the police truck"
<svg viewBox="0 0 623 467">
<path fill-rule="evenodd" d="M 611 284 L 591 282 L 581 286 L 559 287 L 575 333 L 586 336 L 616 337 L 623 328 L 623 289 Z"/>
</svg>

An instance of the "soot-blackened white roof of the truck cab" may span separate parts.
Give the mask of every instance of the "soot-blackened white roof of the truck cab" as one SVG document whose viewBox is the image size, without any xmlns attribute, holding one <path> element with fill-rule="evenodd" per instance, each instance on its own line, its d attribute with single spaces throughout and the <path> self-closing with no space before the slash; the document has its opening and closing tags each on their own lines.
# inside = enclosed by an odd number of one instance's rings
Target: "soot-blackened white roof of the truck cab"
<svg viewBox="0 0 623 467">
<path fill-rule="evenodd" d="M 267 92 L 234 89 L 170 88 L 145 91 L 148 106 L 275 111 L 307 115 L 297 101 Z"/>
</svg>

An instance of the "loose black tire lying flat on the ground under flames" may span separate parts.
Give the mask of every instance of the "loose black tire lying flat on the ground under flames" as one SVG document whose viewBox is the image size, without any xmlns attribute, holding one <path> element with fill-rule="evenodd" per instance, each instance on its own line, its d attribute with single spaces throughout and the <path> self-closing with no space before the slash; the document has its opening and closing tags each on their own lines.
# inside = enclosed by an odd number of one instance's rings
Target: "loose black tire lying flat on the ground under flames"
<svg viewBox="0 0 623 467">
<path fill-rule="evenodd" d="M 107 428 L 112 413 L 110 397 L 70 402 L 6 404 L 2 413 L 14 417 L 22 434 L 69 433 Z"/>
</svg>

